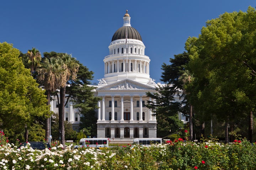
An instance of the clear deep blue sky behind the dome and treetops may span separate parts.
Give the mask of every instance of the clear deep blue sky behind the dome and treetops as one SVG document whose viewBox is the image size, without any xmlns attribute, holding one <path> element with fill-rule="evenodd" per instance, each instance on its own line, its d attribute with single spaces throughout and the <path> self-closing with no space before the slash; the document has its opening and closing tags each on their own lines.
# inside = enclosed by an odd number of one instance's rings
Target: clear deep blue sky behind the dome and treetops
<svg viewBox="0 0 256 170">
<path fill-rule="evenodd" d="M 0 42 L 23 53 L 72 54 L 94 72 L 92 83 L 104 77 L 114 32 L 123 26 L 128 10 L 150 58 L 150 77 L 160 82 L 162 63 L 185 51 L 189 36 L 201 32 L 207 20 L 224 12 L 246 11 L 255 0 L 9 0 L 0 4 Z"/>
</svg>

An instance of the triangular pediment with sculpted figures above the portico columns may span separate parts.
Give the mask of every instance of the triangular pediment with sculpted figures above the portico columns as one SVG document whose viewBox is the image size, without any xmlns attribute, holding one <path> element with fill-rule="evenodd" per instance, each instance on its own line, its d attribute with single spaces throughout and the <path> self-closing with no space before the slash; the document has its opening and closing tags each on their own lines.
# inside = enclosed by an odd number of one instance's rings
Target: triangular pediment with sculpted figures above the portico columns
<svg viewBox="0 0 256 170">
<path fill-rule="evenodd" d="M 155 87 L 125 79 L 109 85 L 101 86 L 97 90 L 153 90 Z"/>
</svg>

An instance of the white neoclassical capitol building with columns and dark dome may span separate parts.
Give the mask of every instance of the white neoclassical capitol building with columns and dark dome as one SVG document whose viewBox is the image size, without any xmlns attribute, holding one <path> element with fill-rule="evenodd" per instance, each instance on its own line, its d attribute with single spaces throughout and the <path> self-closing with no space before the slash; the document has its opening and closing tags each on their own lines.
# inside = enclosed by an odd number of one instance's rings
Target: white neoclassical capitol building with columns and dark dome
<svg viewBox="0 0 256 170">
<path fill-rule="evenodd" d="M 95 96 L 102 98 L 98 101 L 97 137 L 154 138 L 157 137 L 156 117 L 144 106 L 151 101 L 146 92 L 155 92 L 156 86 L 149 75 L 150 59 L 145 55 L 142 37 L 130 24 L 127 11 L 123 22 L 123 27 L 113 34 L 109 55 L 103 60 L 104 78 L 95 89 Z M 182 114 L 179 118 L 186 122 Z M 79 129 L 80 116 L 70 103 L 65 108 L 65 120 L 73 124 L 73 129 Z"/>
</svg>

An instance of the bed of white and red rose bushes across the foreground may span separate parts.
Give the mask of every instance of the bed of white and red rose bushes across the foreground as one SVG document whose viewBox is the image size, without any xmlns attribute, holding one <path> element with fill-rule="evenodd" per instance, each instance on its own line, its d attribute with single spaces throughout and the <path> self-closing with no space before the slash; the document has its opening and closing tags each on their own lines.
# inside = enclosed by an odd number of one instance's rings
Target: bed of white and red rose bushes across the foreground
<svg viewBox="0 0 256 170">
<path fill-rule="evenodd" d="M 155 170 L 155 169 L 246 169 L 256 167 L 256 146 L 246 140 L 224 145 L 218 142 L 176 142 L 150 147 L 119 146 L 106 149 L 79 148 L 62 145 L 50 150 L 17 148 L 14 144 L 0 146 L 0 169 L 37 170 Z"/>
</svg>

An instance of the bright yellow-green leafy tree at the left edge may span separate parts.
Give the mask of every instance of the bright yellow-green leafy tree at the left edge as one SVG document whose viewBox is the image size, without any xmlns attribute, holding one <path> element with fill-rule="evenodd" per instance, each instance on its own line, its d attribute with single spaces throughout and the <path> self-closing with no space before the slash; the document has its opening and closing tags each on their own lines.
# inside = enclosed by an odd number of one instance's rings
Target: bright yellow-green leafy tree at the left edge
<svg viewBox="0 0 256 170">
<path fill-rule="evenodd" d="M 44 91 L 19 58 L 20 51 L 0 43 L 0 128 L 16 134 L 31 126 L 36 117 L 47 117 L 49 106 Z"/>
</svg>

